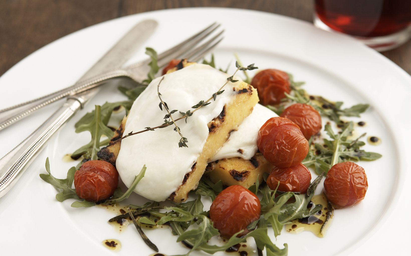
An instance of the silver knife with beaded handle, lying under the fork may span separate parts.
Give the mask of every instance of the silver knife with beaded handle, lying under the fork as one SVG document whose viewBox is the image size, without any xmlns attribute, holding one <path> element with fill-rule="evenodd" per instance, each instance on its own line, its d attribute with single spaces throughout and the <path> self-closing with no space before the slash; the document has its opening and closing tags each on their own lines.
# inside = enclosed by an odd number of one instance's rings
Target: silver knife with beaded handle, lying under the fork
<svg viewBox="0 0 411 256">
<path fill-rule="evenodd" d="M 112 68 L 120 68 L 137 48 L 143 45 L 154 29 L 155 20 L 144 20 L 127 32 L 104 56 L 90 68 L 80 80 L 88 79 Z M 57 131 L 77 110 L 83 108 L 99 88 L 67 97 L 62 106 L 53 113 L 39 128 L 25 138 L 17 147 L 0 159 L 0 197 L 5 195 L 30 163 L 42 149 L 46 141 Z"/>
</svg>

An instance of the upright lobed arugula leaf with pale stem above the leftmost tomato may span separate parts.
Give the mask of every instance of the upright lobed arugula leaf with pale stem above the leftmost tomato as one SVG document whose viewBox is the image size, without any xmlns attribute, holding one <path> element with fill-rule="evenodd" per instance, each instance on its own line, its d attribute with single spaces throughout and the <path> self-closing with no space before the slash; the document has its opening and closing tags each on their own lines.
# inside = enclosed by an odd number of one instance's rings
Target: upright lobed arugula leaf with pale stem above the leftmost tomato
<svg viewBox="0 0 411 256">
<path fill-rule="evenodd" d="M 97 152 L 100 150 L 100 138 L 104 134 L 108 138 L 113 136 L 113 131 L 107 127 L 101 115 L 101 106 L 95 106 L 95 115 L 89 123 L 81 124 L 76 128 L 76 133 L 82 131 L 90 131 L 91 141 L 80 147 L 78 150 L 74 151 L 73 157 L 83 155 L 85 159 L 97 160 Z"/>
</svg>

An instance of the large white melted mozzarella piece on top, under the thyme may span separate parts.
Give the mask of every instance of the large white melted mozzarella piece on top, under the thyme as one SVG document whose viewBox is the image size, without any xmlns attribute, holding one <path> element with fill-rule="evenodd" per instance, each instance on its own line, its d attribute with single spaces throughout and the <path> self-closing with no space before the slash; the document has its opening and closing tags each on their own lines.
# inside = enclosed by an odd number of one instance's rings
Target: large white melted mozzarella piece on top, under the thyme
<svg viewBox="0 0 411 256">
<path fill-rule="evenodd" d="M 200 100 L 207 100 L 217 92 L 227 77 L 226 73 L 208 65 L 194 64 L 165 75 L 159 91 L 170 111 L 177 109 L 186 112 L 193 110 L 192 106 Z M 124 134 L 163 123 L 166 111 L 164 107 L 163 111 L 159 109 L 157 95 L 160 79 L 154 79 L 134 102 Z M 238 77 L 235 79 L 240 80 Z M 217 100 L 201 107 L 188 118 L 187 123 L 184 120 L 177 122 L 182 135 L 188 139 L 188 147 L 178 147 L 180 136 L 173 130 L 174 125 L 122 140 L 116 168 L 125 185 L 129 187 L 143 165 L 146 165 L 145 176 L 134 192 L 157 202 L 167 199 L 182 184 L 185 174 L 191 171 L 207 140 L 208 122 L 219 115 L 224 104 L 231 101 L 234 95 L 231 88 L 238 84 L 240 82 L 229 82 Z M 180 116 L 179 112 L 173 114 L 174 118 Z"/>
</svg>

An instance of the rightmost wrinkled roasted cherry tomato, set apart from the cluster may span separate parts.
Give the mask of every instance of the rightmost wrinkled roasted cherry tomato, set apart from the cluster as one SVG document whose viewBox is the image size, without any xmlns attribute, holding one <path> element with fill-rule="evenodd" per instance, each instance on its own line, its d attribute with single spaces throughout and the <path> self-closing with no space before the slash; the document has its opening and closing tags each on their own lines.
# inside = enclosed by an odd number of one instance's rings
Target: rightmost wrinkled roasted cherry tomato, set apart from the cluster
<svg viewBox="0 0 411 256">
<path fill-rule="evenodd" d="M 364 168 L 353 162 L 335 164 L 324 180 L 324 193 L 336 208 L 357 204 L 364 199 L 367 188 Z"/>
</svg>

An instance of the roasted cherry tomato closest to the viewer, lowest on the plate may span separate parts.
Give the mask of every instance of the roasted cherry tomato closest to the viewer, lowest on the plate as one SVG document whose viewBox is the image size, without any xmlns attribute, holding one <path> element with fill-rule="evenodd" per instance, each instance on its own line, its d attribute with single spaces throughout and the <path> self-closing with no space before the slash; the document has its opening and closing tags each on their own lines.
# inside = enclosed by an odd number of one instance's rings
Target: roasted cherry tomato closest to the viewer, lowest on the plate
<svg viewBox="0 0 411 256">
<path fill-rule="evenodd" d="M 239 236 L 247 234 L 247 226 L 258 220 L 260 214 L 258 197 L 239 185 L 229 186 L 221 191 L 210 207 L 210 219 L 225 238 L 230 238 L 243 229 L 245 231 Z"/>
</svg>

